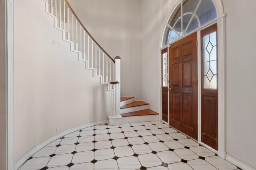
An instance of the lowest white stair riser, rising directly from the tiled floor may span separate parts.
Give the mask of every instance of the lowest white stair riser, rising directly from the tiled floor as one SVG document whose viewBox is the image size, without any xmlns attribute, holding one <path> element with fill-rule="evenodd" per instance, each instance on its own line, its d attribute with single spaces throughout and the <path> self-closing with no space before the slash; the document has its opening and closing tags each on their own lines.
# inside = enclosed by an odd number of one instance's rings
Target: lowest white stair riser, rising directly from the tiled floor
<svg viewBox="0 0 256 170">
<path fill-rule="evenodd" d="M 158 121 L 160 120 L 158 115 L 144 115 L 144 116 L 126 116 L 123 117 L 123 123 L 134 123 L 134 122 L 142 122 L 142 121 Z"/>
</svg>

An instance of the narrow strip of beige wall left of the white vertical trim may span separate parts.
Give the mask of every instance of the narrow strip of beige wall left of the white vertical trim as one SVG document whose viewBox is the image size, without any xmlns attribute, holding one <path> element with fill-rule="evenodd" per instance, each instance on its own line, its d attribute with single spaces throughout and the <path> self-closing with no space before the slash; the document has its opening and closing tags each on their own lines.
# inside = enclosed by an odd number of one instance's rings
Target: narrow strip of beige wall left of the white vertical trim
<svg viewBox="0 0 256 170">
<path fill-rule="evenodd" d="M 5 0 L 0 0 L 0 170 L 6 169 L 6 32 Z"/>
</svg>

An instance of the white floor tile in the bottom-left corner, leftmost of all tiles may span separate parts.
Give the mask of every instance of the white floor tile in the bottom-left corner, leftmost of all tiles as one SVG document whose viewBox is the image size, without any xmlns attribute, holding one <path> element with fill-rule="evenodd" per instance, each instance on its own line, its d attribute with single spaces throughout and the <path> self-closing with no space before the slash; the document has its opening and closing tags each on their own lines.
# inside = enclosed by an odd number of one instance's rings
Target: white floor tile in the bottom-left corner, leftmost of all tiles
<svg viewBox="0 0 256 170">
<path fill-rule="evenodd" d="M 35 169 L 41 169 L 50 160 L 49 156 L 46 157 L 40 157 L 40 158 L 32 158 L 28 160 L 21 168 L 20 170 L 35 170 Z"/>
</svg>

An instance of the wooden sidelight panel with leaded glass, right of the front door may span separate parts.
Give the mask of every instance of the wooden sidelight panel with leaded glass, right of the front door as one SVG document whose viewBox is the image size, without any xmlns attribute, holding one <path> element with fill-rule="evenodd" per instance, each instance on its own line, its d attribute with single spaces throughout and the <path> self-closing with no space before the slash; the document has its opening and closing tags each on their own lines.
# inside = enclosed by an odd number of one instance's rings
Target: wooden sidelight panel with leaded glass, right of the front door
<svg viewBox="0 0 256 170">
<path fill-rule="evenodd" d="M 217 23 L 201 31 L 201 141 L 218 150 Z"/>
</svg>

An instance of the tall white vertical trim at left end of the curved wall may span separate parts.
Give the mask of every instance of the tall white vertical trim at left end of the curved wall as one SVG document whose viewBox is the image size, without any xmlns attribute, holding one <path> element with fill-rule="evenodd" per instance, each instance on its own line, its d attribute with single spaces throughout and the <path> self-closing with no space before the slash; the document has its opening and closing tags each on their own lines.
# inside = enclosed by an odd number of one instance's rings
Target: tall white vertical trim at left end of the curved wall
<svg viewBox="0 0 256 170">
<path fill-rule="evenodd" d="M 14 5 L 7 0 L 8 170 L 14 170 Z"/>
</svg>

